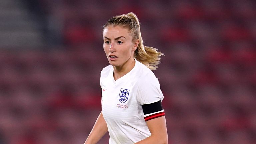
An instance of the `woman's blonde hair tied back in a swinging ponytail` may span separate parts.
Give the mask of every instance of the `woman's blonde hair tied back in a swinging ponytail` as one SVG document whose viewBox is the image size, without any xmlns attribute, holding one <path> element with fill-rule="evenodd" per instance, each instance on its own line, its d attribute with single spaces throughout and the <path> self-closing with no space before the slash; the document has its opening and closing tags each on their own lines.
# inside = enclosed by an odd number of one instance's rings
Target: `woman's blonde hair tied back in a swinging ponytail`
<svg viewBox="0 0 256 144">
<path fill-rule="evenodd" d="M 156 70 L 156 65 L 160 63 L 160 56 L 164 54 L 158 52 L 156 48 L 143 45 L 143 40 L 140 32 L 140 22 L 134 13 L 130 12 L 109 19 L 108 22 L 103 26 L 104 29 L 109 25 L 120 25 L 127 27 L 133 35 L 133 40 L 139 39 L 138 47 L 134 52 L 134 58 L 136 58 L 142 64 L 146 65 L 149 69 Z"/>
</svg>

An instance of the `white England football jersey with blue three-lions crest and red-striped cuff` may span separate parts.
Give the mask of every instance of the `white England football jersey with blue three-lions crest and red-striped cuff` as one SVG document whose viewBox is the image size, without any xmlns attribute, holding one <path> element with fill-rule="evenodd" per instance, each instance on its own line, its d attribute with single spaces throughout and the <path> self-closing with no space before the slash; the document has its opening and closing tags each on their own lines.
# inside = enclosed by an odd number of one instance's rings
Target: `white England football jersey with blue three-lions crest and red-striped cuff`
<svg viewBox="0 0 256 144">
<path fill-rule="evenodd" d="M 113 72 L 109 65 L 100 77 L 109 144 L 133 144 L 151 135 L 147 120 L 164 115 L 164 110 L 144 115 L 142 105 L 162 101 L 164 96 L 154 73 L 137 60 L 134 68 L 116 81 Z"/>
</svg>

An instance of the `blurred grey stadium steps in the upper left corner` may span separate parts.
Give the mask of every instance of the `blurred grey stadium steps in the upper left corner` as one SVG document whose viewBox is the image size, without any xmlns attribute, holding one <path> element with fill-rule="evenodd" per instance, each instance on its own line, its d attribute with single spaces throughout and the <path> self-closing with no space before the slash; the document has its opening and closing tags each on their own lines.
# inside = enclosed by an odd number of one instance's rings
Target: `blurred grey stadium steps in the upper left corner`
<svg viewBox="0 0 256 144">
<path fill-rule="evenodd" d="M 40 25 L 20 0 L 0 0 L 0 47 L 43 45 Z"/>
</svg>

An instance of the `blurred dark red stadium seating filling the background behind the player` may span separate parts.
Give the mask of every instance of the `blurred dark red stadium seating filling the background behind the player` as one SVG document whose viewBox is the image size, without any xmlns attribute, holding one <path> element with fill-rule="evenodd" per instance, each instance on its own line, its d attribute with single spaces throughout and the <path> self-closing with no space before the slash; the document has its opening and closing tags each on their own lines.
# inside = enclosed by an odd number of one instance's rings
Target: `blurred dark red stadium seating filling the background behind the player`
<svg viewBox="0 0 256 144">
<path fill-rule="evenodd" d="M 84 143 L 101 111 L 102 26 L 133 11 L 170 144 L 256 143 L 253 0 L 0 0 L 0 144 Z M 108 144 L 108 135 L 99 144 Z"/>
</svg>

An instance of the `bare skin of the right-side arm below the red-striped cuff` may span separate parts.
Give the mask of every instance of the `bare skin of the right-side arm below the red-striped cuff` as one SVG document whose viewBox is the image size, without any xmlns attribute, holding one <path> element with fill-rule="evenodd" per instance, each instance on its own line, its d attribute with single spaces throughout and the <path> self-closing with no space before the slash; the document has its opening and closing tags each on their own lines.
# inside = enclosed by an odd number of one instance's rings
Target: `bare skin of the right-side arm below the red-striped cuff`
<svg viewBox="0 0 256 144">
<path fill-rule="evenodd" d="M 151 136 L 135 144 L 168 144 L 165 116 L 148 120 L 147 122 Z"/>
</svg>

